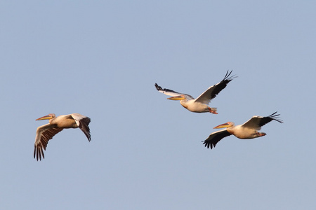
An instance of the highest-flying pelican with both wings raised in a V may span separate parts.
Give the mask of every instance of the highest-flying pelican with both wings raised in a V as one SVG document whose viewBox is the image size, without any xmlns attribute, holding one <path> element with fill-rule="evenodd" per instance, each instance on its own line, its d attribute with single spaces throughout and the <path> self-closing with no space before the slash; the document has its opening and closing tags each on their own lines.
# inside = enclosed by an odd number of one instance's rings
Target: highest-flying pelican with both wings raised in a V
<svg viewBox="0 0 316 210">
<path fill-rule="evenodd" d="M 211 108 L 207 105 L 211 102 L 211 99 L 215 98 L 216 95 L 223 90 L 233 78 L 235 78 L 235 76 L 230 76 L 230 73 L 232 73 L 232 71 L 229 73 L 227 71 L 225 77 L 220 81 L 220 83 L 209 87 L 209 89 L 203 92 L 199 97 L 197 97 L 197 99 L 190 96 L 190 94 L 183 94 L 166 88 L 162 89 L 162 87 L 157 85 L 157 83 L 155 83 L 154 86 L 156 86 L 156 89 L 159 92 L 172 96 L 168 98 L 169 100 L 180 100 L 180 104 L 189 111 L 197 113 L 210 112 L 217 114 L 216 108 Z"/>
</svg>

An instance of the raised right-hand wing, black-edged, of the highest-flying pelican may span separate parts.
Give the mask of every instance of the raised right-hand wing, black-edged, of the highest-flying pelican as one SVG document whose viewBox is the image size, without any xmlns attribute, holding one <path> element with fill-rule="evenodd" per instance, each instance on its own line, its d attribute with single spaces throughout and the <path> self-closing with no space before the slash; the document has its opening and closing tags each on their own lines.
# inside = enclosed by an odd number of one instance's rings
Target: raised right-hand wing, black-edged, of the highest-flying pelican
<svg viewBox="0 0 316 210">
<path fill-rule="evenodd" d="M 220 91 L 222 91 L 233 78 L 235 78 L 235 76 L 230 76 L 231 73 L 232 71 L 230 71 L 229 73 L 227 71 L 225 77 L 223 78 L 223 80 L 220 81 L 220 83 L 209 87 L 209 89 L 207 89 L 199 97 L 197 97 L 197 99 L 195 99 L 195 102 L 209 104 L 209 102 L 211 102 L 211 99 L 215 98 L 216 95 Z"/>
</svg>

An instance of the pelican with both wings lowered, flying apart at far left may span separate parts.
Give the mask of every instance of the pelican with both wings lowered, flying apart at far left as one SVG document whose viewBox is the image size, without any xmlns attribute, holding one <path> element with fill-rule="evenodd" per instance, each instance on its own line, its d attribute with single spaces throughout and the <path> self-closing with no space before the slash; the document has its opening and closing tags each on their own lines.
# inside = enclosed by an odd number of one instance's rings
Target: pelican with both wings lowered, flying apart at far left
<svg viewBox="0 0 316 210">
<path fill-rule="evenodd" d="M 88 141 L 91 141 L 90 129 L 88 127 L 90 118 L 82 116 L 79 113 L 58 116 L 57 118 L 55 114 L 50 113 L 48 116 L 38 118 L 37 120 L 49 120 L 48 124 L 37 127 L 37 137 L 35 137 L 34 143 L 34 158 L 36 156 L 37 160 L 41 160 L 41 156 L 44 159 L 44 151 L 46 150 L 48 141 L 64 128 L 79 127 L 88 138 Z"/>
</svg>

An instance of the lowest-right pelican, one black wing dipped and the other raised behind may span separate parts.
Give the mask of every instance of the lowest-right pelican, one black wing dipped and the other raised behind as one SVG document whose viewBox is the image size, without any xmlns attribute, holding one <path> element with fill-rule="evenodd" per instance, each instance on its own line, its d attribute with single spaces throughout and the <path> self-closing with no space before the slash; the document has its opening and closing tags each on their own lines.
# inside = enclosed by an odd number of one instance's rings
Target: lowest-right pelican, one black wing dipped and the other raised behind
<svg viewBox="0 0 316 210">
<path fill-rule="evenodd" d="M 261 127 L 263 125 L 270 123 L 272 120 L 275 120 L 279 123 L 283 123 L 283 121 L 277 117 L 279 116 L 279 114 L 276 113 L 277 112 L 272 113 L 268 117 L 254 116 L 242 125 L 235 126 L 235 124 L 232 122 L 218 125 L 214 128 L 227 127 L 227 129 L 211 133 L 211 135 L 209 135 L 209 138 L 207 138 L 203 144 L 207 148 L 213 148 L 216 146 L 218 141 L 230 136 L 231 134 L 233 134 L 235 137 L 239 139 L 254 139 L 258 137 L 263 137 L 266 134 L 258 132 L 258 130 L 261 130 Z"/>
</svg>

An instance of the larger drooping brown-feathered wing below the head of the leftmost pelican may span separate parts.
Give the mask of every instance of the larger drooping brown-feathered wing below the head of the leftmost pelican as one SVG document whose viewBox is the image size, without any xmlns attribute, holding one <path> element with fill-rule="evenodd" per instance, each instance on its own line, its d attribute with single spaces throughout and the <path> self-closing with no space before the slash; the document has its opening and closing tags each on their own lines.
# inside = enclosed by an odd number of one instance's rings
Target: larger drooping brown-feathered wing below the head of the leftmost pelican
<svg viewBox="0 0 316 210">
<path fill-rule="evenodd" d="M 34 143 L 34 158 L 37 157 L 37 160 L 41 160 L 41 156 L 44 157 L 44 151 L 48 141 L 62 131 L 62 128 L 56 127 L 56 125 L 46 124 L 37 128 L 37 137 L 35 137 Z M 44 149 L 44 151 L 43 151 Z"/>
</svg>

